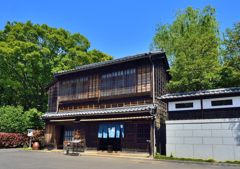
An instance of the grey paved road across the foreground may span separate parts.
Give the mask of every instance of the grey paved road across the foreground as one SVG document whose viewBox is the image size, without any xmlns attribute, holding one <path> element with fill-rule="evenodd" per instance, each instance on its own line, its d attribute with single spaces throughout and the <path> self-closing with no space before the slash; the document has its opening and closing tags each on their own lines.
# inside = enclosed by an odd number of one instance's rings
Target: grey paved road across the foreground
<svg viewBox="0 0 240 169">
<path fill-rule="evenodd" d="M 0 169 L 230 169 L 237 167 L 173 163 L 150 159 L 67 156 L 62 153 L 0 149 Z"/>
</svg>

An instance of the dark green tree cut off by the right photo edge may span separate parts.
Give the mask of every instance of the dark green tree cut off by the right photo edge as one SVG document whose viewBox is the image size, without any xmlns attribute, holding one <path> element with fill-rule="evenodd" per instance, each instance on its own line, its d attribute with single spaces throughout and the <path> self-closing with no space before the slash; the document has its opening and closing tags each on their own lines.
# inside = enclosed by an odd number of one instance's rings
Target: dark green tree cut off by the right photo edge
<svg viewBox="0 0 240 169">
<path fill-rule="evenodd" d="M 227 28 L 223 34 L 223 66 L 219 74 L 219 87 L 240 86 L 240 21 L 232 29 Z"/>
</svg>

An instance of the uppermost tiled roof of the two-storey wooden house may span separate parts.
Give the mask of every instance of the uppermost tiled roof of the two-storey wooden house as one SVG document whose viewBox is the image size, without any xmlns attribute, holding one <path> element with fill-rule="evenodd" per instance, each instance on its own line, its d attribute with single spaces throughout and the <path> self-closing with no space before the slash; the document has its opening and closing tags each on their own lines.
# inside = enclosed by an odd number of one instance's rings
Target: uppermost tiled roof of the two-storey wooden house
<svg viewBox="0 0 240 169">
<path fill-rule="evenodd" d="M 84 69 L 91 69 L 91 68 L 96 68 L 96 67 L 101 67 L 101 66 L 107 66 L 107 65 L 116 64 L 116 63 L 120 63 L 120 62 L 126 62 L 126 61 L 130 61 L 130 60 L 141 59 L 144 57 L 148 57 L 148 54 L 150 54 L 150 53 L 151 54 L 161 54 L 161 53 L 165 53 L 165 52 L 158 49 L 158 50 L 141 53 L 141 54 L 137 54 L 137 55 L 132 55 L 132 56 L 127 56 L 127 57 L 123 57 L 123 58 L 119 58 L 119 59 L 108 60 L 105 62 L 98 62 L 98 63 L 89 64 L 89 65 L 78 66 L 75 69 L 56 72 L 56 73 L 54 73 L 54 75 L 64 74 L 64 73 L 68 73 L 68 72 L 70 73 L 70 72 L 84 70 Z"/>
</svg>

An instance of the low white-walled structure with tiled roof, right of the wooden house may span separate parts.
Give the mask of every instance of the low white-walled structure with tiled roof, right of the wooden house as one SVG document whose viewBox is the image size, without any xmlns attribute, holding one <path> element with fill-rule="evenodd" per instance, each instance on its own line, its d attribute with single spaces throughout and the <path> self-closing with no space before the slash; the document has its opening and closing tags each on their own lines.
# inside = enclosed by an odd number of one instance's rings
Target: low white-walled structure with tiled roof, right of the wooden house
<svg viewBox="0 0 240 169">
<path fill-rule="evenodd" d="M 173 93 L 168 104 L 167 156 L 240 160 L 240 87 Z"/>
</svg>

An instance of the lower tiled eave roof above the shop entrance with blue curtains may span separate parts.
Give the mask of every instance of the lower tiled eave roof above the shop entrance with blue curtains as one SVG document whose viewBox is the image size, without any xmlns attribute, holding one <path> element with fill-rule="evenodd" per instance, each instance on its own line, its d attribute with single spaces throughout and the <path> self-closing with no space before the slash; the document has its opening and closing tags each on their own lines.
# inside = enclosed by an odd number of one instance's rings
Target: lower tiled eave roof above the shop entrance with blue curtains
<svg viewBox="0 0 240 169">
<path fill-rule="evenodd" d="M 116 107 L 116 108 L 106 108 L 106 109 L 65 111 L 65 112 L 58 112 L 58 113 L 45 113 L 44 115 L 42 115 L 42 118 L 82 116 L 82 115 L 102 115 L 102 114 L 126 113 L 126 112 L 136 112 L 136 111 L 148 111 L 152 107 L 153 107 L 152 104 L 148 104 L 148 105 Z"/>
</svg>

